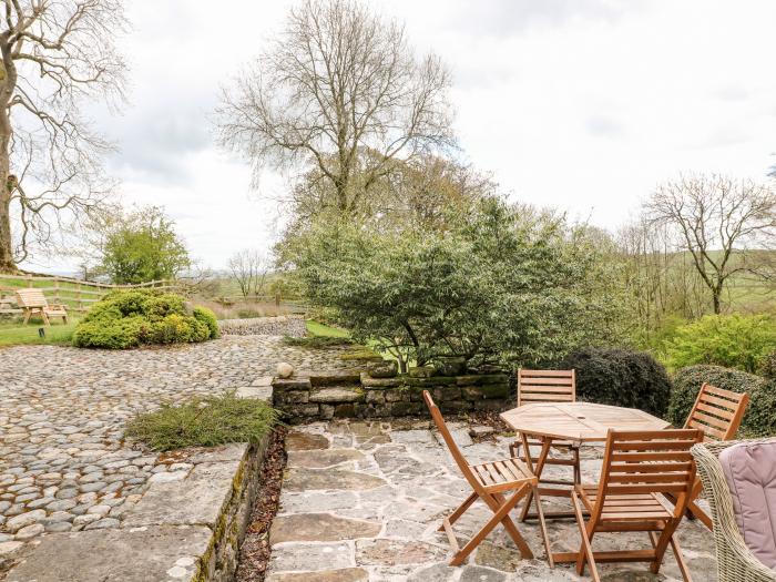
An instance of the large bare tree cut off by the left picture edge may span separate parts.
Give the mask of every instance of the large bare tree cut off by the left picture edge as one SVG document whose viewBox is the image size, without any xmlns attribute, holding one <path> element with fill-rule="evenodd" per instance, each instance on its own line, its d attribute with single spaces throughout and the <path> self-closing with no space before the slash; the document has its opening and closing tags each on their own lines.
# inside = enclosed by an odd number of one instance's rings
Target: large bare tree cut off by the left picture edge
<svg viewBox="0 0 776 582">
<path fill-rule="evenodd" d="M 113 41 L 125 21 L 121 0 L 0 7 L 0 270 L 14 270 L 112 186 L 101 165 L 110 144 L 79 103 L 123 96 L 125 65 Z"/>
</svg>

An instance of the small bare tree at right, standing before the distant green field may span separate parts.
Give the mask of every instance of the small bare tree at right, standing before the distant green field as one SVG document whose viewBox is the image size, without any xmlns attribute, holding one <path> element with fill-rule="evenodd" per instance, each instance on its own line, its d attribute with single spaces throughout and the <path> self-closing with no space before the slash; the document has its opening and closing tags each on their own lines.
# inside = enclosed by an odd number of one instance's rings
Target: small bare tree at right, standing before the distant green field
<svg viewBox="0 0 776 582">
<path fill-rule="evenodd" d="M 645 211 L 653 224 L 673 228 L 712 294 L 714 313 L 731 277 L 773 279 L 763 249 L 776 243 L 776 193 L 749 180 L 682 176 L 657 187 Z"/>
</svg>

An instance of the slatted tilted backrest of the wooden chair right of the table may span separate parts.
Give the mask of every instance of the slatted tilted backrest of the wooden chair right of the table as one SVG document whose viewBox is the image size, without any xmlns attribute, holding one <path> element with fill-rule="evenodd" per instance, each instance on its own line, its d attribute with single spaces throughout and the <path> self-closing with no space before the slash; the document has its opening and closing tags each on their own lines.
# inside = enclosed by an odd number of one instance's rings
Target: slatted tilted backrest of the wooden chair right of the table
<svg viewBox="0 0 776 582">
<path fill-rule="evenodd" d="M 700 428 L 705 440 L 731 440 L 741 426 L 748 402 L 746 392 L 732 392 L 704 382 L 684 428 Z"/>
</svg>

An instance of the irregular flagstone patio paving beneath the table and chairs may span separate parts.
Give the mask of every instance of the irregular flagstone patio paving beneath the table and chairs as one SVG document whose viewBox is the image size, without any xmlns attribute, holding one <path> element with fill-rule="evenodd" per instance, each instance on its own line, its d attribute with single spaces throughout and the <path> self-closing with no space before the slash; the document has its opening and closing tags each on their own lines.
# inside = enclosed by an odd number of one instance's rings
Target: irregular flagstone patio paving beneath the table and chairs
<svg viewBox="0 0 776 582">
<path fill-rule="evenodd" d="M 410 430 L 397 430 L 410 428 Z M 463 426 L 451 423 L 453 438 L 470 462 L 507 455 L 508 439 L 473 443 Z M 580 580 L 570 566 L 551 570 L 537 525 L 520 523 L 535 554 L 521 560 L 503 528 L 497 527 L 461 568 L 450 568 L 442 515 L 470 493 L 438 433 L 428 422 L 338 421 L 297 427 L 286 439 L 288 464 L 280 509 L 269 535 L 267 582 L 540 582 Z M 593 482 L 601 450 L 583 449 L 583 480 Z M 552 467 L 548 473 L 563 474 Z M 563 500 L 543 499 L 545 509 L 566 509 Z M 463 544 L 491 517 L 476 502 L 456 523 Z M 579 549 L 576 525 L 548 522 L 553 551 Z M 464 539 L 466 538 L 466 539 Z M 715 581 L 712 534 L 685 521 L 680 542 L 695 580 Z M 647 548 L 644 533 L 599 534 L 598 549 Z M 604 580 L 681 580 L 671 552 L 660 575 L 649 564 L 600 565 Z M 589 580 L 589 579 L 583 579 Z"/>
</svg>

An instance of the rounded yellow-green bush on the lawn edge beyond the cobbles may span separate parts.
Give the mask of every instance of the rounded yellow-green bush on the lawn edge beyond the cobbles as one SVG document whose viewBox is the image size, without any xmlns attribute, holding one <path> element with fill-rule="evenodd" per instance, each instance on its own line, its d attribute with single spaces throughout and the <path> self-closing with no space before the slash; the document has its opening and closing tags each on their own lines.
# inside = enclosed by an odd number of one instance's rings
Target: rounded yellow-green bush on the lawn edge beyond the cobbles
<svg viewBox="0 0 776 582">
<path fill-rule="evenodd" d="M 206 309 L 188 314 L 180 295 L 154 290 L 108 294 L 81 319 L 73 344 L 85 348 L 127 349 L 141 345 L 204 341 L 213 337 Z M 215 324 L 217 330 L 217 324 Z"/>
</svg>

